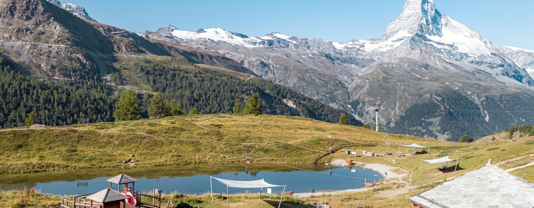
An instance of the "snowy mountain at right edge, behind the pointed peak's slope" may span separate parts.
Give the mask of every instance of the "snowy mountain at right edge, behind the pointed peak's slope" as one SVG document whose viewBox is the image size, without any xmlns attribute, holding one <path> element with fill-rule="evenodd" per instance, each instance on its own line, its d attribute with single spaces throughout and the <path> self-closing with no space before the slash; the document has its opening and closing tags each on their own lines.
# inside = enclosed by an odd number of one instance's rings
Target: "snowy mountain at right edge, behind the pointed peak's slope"
<svg viewBox="0 0 534 208">
<path fill-rule="evenodd" d="M 517 66 L 527 70 L 531 77 L 534 77 L 534 51 L 512 46 L 498 47 L 498 50 L 501 54 L 512 59 Z"/>
</svg>

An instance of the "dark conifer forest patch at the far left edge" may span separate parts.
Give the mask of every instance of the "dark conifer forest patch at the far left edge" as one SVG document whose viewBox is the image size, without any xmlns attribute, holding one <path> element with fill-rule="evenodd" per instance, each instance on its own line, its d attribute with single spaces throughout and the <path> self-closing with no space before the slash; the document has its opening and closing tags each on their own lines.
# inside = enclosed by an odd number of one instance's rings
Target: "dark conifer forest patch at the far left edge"
<svg viewBox="0 0 534 208">
<path fill-rule="evenodd" d="M 77 118 L 89 118 L 90 122 L 113 121 L 115 97 L 101 79 L 56 83 L 35 79 L 11 69 L 0 55 L 0 89 L 2 128 L 30 123 L 68 125 L 75 124 Z M 34 118 L 26 123 L 32 112 Z"/>
</svg>

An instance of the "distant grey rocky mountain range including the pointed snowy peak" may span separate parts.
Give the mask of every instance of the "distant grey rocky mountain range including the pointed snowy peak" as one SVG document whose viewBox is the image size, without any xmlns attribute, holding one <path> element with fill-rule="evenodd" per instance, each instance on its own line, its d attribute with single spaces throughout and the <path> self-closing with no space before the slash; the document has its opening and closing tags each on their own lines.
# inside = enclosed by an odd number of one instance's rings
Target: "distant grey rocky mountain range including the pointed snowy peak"
<svg viewBox="0 0 534 208">
<path fill-rule="evenodd" d="M 391 133 L 457 140 L 534 118 L 506 112 L 534 107 L 534 79 L 476 31 L 439 13 L 431 0 L 406 1 L 386 33 L 370 40 L 251 37 L 174 26 L 146 35 L 217 51 L 370 122 L 374 115 L 366 108 L 383 103 L 380 121 Z"/>
</svg>

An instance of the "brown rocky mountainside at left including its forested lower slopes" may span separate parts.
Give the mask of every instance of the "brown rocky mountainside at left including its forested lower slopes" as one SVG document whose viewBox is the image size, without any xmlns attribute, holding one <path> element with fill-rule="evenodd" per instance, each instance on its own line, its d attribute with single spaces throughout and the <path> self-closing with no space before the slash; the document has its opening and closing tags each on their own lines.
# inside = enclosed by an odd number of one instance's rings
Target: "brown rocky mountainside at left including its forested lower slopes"
<svg viewBox="0 0 534 208">
<path fill-rule="evenodd" d="M 151 93 L 162 92 L 185 111 L 231 113 L 236 99 L 259 93 L 268 114 L 337 122 L 344 113 L 217 52 L 87 21 L 44 0 L 0 1 L 0 17 L 1 127 L 23 125 L 32 111 L 46 125 L 113 121 L 122 88 L 145 93 L 145 107 Z M 348 121 L 362 125 L 350 114 Z"/>
</svg>

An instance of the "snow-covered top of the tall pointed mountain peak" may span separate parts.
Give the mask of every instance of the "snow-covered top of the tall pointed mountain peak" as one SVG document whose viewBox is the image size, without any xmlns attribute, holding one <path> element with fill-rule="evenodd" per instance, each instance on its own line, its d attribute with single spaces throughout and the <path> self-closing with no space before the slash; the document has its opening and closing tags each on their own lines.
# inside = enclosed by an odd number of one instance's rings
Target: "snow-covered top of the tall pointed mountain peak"
<svg viewBox="0 0 534 208">
<path fill-rule="evenodd" d="M 365 51 L 388 51 L 410 39 L 406 48 L 415 48 L 459 59 L 491 55 L 496 48 L 475 30 L 436 10 L 433 0 L 407 0 L 403 11 L 380 38 L 362 41 Z M 461 53 L 461 55 L 451 55 Z"/>
</svg>

